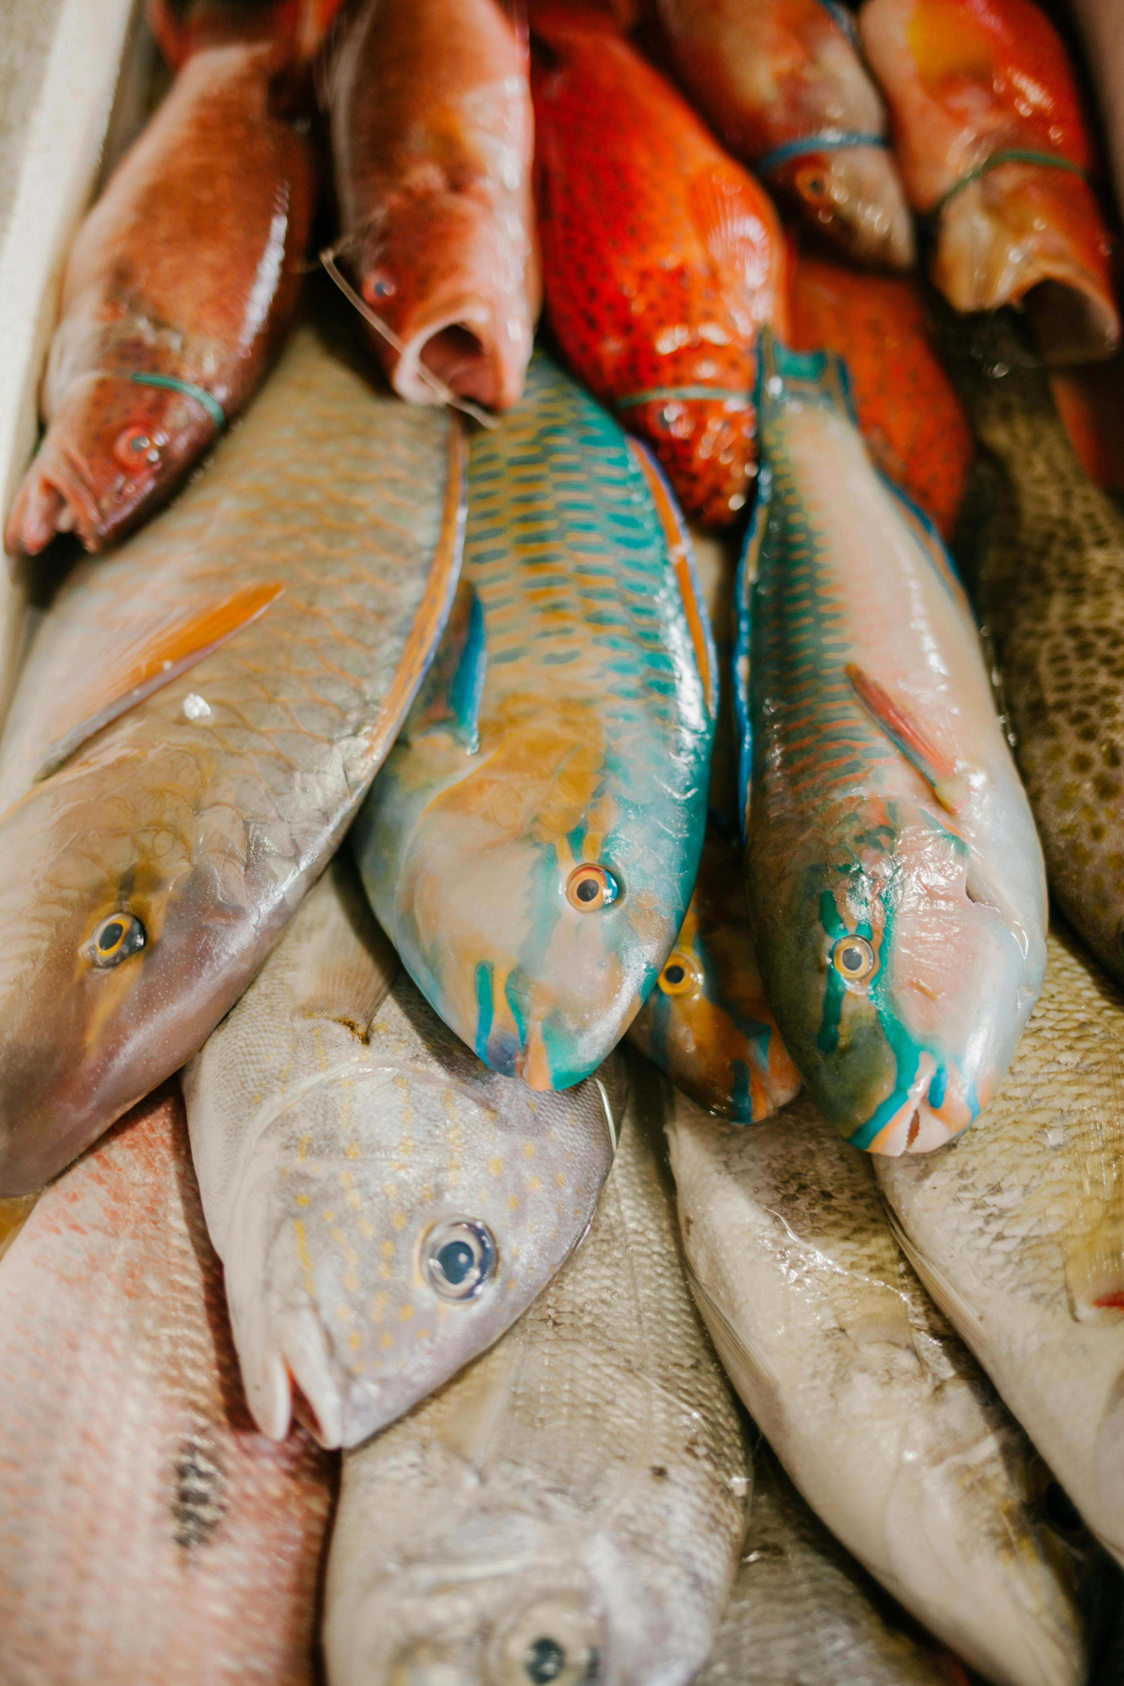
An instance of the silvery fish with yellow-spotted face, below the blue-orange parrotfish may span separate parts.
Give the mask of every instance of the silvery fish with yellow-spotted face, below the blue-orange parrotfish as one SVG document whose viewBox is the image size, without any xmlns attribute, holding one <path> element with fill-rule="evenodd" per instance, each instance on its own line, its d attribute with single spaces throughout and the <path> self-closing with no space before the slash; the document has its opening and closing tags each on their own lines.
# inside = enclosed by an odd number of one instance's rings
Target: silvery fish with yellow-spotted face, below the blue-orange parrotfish
<svg viewBox="0 0 1124 1686">
<path fill-rule="evenodd" d="M 428 1007 L 335 858 L 184 1071 L 246 1398 L 292 1384 L 354 1447 L 507 1329 L 590 1226 L 617 1055 L 563 1096 L 499 1077 Z"/>
</svg>

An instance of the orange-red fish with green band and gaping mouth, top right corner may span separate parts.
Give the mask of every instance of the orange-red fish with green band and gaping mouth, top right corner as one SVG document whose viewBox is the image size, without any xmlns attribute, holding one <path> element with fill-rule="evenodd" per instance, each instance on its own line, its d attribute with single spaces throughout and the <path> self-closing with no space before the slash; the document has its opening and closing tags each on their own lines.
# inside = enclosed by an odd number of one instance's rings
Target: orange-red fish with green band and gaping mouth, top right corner
<svg viewBox="0 0 1124 1686">
<path fill-rule="evenodd" d="M 859 35 L 949 303 L 1021 303 L 1050 362 L 1111 356 L 1121 341 L 1112 243 L 1046 15 L 1031 0 L 866 0 Z"/>
</svg>

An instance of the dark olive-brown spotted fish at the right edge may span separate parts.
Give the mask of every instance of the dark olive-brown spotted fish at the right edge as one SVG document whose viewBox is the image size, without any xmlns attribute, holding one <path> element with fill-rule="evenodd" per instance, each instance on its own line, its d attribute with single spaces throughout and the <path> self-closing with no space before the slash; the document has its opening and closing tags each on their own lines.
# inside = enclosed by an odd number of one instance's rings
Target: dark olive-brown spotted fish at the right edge
<svg viewBox="0 0 1124 1686">
<path fill-rule="evenodd" d="M 1124 518 L 1089 479 L 1013 312 L 939 320 L 988 452 L 961 551 L 994 641 L 1053 897 L 1124 981 L 1124 728 L 1117 602 Z"/>
</svg>

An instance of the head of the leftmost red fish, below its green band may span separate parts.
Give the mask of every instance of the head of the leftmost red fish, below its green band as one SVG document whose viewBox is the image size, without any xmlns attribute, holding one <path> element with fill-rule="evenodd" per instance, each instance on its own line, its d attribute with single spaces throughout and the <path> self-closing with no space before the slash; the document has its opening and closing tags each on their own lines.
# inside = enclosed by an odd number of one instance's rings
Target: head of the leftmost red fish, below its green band
<svg viewBox="0 0 1124 1686">
<path fill-rule="evenodd" d="M 5 529 L 10 553 L 56 533 L 86 550 L 115 543 L 184 477 L 217 433 L 197 398 L 121 374 L 71 381 L 30 462 Z"/>
</svg>

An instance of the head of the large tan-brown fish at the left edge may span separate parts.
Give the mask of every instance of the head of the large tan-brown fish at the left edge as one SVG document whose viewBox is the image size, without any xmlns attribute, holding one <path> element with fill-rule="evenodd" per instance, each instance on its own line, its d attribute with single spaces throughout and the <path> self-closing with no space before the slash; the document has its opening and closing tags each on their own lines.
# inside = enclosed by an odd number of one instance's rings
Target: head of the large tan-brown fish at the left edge
<svg viewBox="0 0 1124 1686">
<path fill-rule="evenodd" d="M 243 821 L 195 821 L 192 757 L 150 750 L 145 771 L 91 755 L 0 818 L 0 1195 L 182 1066 L 280 929 L 248 921 Z"/>
</svg>

